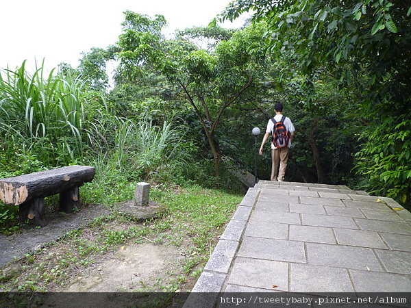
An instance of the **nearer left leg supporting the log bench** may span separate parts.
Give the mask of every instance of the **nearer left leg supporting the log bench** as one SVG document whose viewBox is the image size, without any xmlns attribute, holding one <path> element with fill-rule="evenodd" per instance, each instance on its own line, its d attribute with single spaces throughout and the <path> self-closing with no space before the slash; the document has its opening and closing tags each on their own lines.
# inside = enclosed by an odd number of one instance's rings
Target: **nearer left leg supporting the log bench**
<svg viewBox="0 0 411 308">
<path fill-rule="evenodd" d="M 32 201 L 21 203 L 18 207 L 22 227 L 45 227 L 47 225 L 45 216 L 45 199 L 36 198 Z M 27 222 L 28 219 L 28 222 Z"/>
</svg>

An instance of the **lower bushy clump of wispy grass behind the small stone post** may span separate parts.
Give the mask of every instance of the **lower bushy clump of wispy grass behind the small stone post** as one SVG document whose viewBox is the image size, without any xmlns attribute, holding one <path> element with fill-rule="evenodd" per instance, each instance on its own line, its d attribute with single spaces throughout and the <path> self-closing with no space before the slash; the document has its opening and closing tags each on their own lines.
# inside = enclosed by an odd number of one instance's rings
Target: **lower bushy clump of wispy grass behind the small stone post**
<svg viewBox="0 0 411 308">
<path fill-rule="evenodd" d="M 99 123 L 96 131 L 99 139 L 92 142 L 96 155 L 88 162 L 95 166 L 96 176 L 84 187 L 86 201 L 112 204 L 130 199 L 136 181 L 189 180 L 197 148 L 173 121 L 157 126 L 147 118 L 134 123 L 113 117 Z"/>
</svg>

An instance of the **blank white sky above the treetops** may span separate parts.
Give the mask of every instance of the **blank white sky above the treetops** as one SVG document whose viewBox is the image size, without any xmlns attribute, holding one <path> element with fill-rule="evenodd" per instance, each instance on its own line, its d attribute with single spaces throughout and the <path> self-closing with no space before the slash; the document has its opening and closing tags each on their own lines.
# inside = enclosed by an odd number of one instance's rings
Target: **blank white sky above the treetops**
<svg viewBox="0 0 411 308">
<path fill-rule="evenodd" d="M 162 14 L 175 29 L 208 25 L 231 0 L 0 0 L 0 69 L 47 68 L 60 62 L 78 65 L 80 53 L 114 44 L 123 12 Z M 240 27 L 243 20 L 224 27 Z"/>
</svg>

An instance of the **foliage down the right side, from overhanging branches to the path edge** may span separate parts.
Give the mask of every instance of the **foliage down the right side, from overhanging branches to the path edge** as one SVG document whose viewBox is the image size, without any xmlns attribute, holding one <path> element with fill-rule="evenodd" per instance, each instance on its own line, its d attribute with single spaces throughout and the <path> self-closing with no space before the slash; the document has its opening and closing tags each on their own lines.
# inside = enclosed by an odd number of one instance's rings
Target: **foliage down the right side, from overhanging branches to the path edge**
<svg viewBox="0 0 411 308">
<path fill-rule="evenodd" d="M 273 53 L 295 52 L 298 66 L 309 77 L 316 68 L 326 67 L 339 79 L 340 86 L 356 94 L 348 103 L 353 107 L 360 103 L 362 123 L 369 127 L 362 134 L 364 151 L 358 153 L 359 170 L 373 179 L 369 184 L 373 191 L 388 192 L 410 203 L 408 1 L 237 0 L 221 18 L 233 19 L 249 10 L 255 12 L 255 21 L 264 20 L 269 25 L 266 40 Z M 389 125 L 380 123 L 381 118 L 389 118 Z M 371 133 L 375 130 L 381 133 L 378 138 Z M 401 138 L 389 138 L 393 133 Z M 393 140 L 398 146 L 389 146 Z M 381 151 L 380 143 L 386 144 L 389 152 Z M 369 155 L 391 158 L 371 160 Z M 392 164 L 394 161 L 399 165 Z"/>
</svg>

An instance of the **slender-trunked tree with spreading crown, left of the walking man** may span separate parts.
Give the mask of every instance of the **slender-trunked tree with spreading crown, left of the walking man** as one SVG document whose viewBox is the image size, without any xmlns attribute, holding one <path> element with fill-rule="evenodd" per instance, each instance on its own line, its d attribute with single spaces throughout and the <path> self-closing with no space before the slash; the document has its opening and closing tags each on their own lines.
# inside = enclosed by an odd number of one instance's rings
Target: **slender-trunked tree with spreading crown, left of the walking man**
<svg viewBox="0 0 411 308">
<path fill-rule="evenodd" d="M 147 70 L 166 76 L 175 86 L 176 94 L 195 110 L 219 177 L 221 152 L 215 132 L 225 110 L 254 97 L 259 69 L 264 66 L 264 54 L 256 51 L 262 44 L 261 29 L 237 31 L 231 38 L 217 42 L 215 50 L 210 51 L 184 40 L 184 35 L 190 34 L 192 40 L 204 36 L 218 40 L 227 38 L 226 30 L 196 28 L 180 33 L 176 40 L 165 40 L 160 31 L 165 22 L 162 16 L 151 20 L 126 12 L 126 21 L 119 40 L 119 72 L 131 82 Z M 262 50 L 261 46 L 258 50 Z"/>
</svg>

